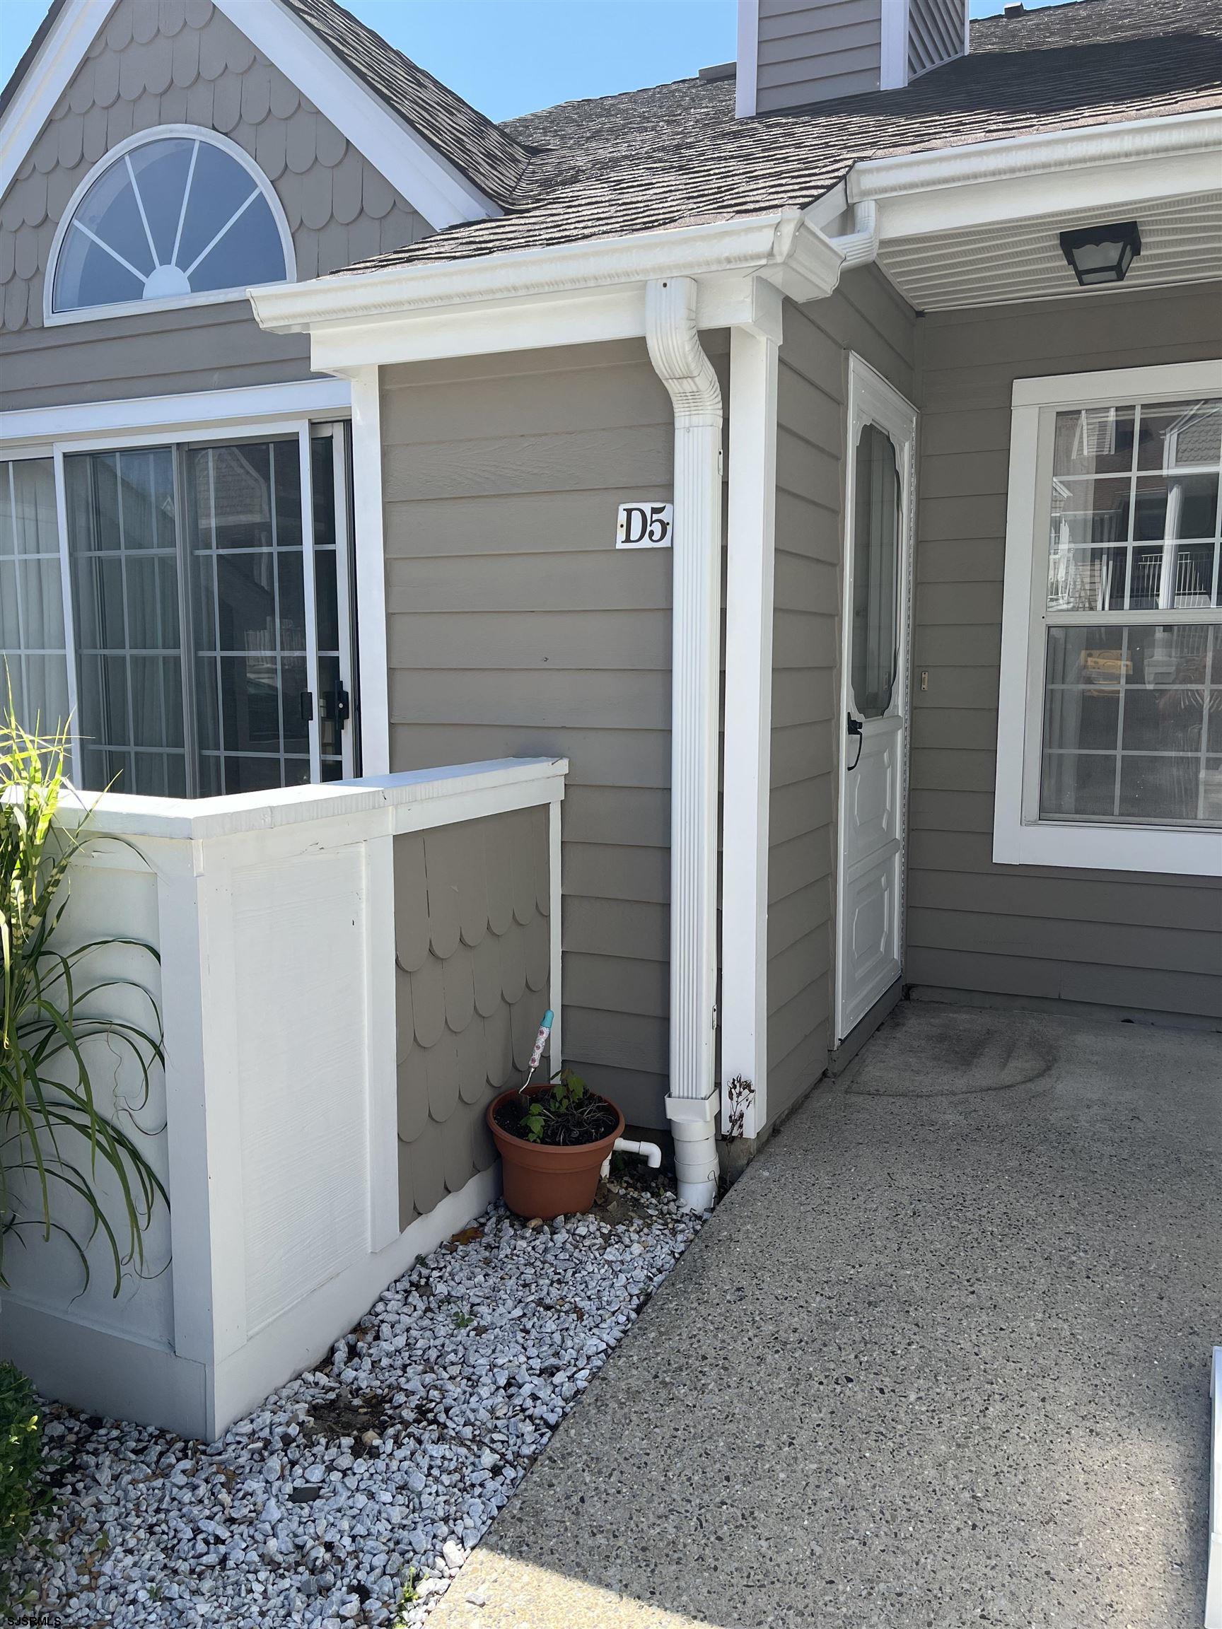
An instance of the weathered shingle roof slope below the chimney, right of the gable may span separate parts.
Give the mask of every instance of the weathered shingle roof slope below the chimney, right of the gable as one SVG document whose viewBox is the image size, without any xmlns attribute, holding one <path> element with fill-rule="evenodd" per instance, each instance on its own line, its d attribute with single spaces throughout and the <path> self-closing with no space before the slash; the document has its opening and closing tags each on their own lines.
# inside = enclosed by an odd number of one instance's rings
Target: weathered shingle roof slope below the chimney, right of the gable
<svg viewBox="0 0 1222 1629">
<path fill-rule="evenodd" d="M 904 90 L 805 111 L 735 119 L 733 93 L 733 80 L 678 80 L 510 121 L 505 132 L 541 151 L 499 200 L 505 215 L 347 270 L 805 209 L 857 160 L 1222 108 L 1222 0 L 1075 0 L 986 18 L 968 57 Z"/>
</svg>

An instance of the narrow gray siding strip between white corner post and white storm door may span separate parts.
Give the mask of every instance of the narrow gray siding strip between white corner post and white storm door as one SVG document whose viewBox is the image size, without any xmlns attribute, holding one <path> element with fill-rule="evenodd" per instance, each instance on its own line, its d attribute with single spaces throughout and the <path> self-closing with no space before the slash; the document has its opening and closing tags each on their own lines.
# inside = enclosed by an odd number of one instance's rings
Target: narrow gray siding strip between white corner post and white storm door
<svg viewBox="0 0 1222 1629">
<path fill-rule="evenodd" d="M 912 394 L 914 318 L 873 269 L 829 300 L 785 303 L 767 904 L 769 1119 L 828 1062 L 839 743 L 841 490 L 849 352 Z"/>
</svg>

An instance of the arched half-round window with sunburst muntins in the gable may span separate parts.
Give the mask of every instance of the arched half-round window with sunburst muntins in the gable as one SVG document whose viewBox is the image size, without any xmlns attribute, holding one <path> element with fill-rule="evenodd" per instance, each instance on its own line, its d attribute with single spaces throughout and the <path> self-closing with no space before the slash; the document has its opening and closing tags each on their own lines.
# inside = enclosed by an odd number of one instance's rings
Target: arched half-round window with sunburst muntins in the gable
<svg viewBox="0 0 1222 1629">
<path fill-rule="evenodd" d="M 121 142 L 65 210 L 47 321 L 218 300 L 293 277 L 293 241 L 267 178 L 213 130 L 165 125 Z"/>
</svg>

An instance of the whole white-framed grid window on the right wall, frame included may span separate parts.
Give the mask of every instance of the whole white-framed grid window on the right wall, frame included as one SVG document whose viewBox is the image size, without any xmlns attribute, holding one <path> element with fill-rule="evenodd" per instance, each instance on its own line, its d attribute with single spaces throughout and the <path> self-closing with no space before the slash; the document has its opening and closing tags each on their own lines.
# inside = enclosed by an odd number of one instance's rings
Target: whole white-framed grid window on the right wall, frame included
<svg viewBox="0 0 1222 1629">
<path fill-rule="evenodd" d="M 1222 365 L 1013 389 L 994 858 L 1222 873 Z"/>
</svg>

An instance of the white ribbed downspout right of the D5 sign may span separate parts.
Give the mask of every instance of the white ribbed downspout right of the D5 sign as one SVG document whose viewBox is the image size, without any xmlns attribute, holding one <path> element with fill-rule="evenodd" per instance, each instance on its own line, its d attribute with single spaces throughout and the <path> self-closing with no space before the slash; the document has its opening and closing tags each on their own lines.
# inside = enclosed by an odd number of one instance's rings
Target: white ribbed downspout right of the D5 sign
<svg viewBox="0 0 1222 1629">
<path fill-rule="evenodd" d="M 679 1202 L 717 1201 L 717 696 L 722 389 L 696 329 L 696 282 L 645 285 L 645 339 L 675 404 L 670 788 L 670 1093 Z"/>
</svg>

